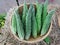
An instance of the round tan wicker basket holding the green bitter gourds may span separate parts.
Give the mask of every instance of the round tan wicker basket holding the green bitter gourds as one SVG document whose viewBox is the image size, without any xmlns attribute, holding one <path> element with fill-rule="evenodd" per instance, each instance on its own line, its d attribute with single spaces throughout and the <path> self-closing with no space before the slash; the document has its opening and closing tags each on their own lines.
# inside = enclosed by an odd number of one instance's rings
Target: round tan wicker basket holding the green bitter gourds
<svg viewBox="0 0 60 45">
<path fill-rule="evenodd" d="M 29 8 L 29 4 L 27 6 Z M 35 4 L 34 4 L 34 6 L 36 8 Z M 14 7 L 14 8 L 17 8 L 17 7 Z M 8 27 L 10 28 L 10 34 L 12 34 L 12 36 L 14 37 L 14 39 L 16 39 L 18 41 L 21 41 L 21 42 L 24 42 L 24 43 L 37 43 L 37 42 L 40 42 L 40 41 L 44 40 L 50 34 L 51 29 L 52 29 L 52 23 L 51 23 L 51 25 L 50 25 L 50 27 L 48 29 L 48 32 L 44 36 L 42 36 L 42 37 L 39 36 L 36 39 L 30 38 L 28 41 L 21 40 L 17 35 L 13 34 L 12 31 L 11 31 L 11 19 L 12 19 L 14 8 L 11 8 L 9 10 L 8 14 L 7 14 L 7 15 L 9 15 L 9 17 L 8 17 L 9 18 L 9 20 L 8 20 L 9 26 Z M 22 9 L 23 9 L 23 5 L 20 5 L 18 8 L 19 8 L 19 13 L 21 13 Z"/>
</svg>

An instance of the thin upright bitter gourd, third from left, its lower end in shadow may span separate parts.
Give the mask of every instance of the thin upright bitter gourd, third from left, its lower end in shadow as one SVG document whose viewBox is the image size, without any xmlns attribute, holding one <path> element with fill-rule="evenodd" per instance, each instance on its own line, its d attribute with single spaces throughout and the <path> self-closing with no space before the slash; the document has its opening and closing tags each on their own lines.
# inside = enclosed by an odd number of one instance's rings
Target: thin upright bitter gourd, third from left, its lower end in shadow
<svg viewBox="0 0 60 45">
<path fill-rule="evenodd" d="M 23 15 L 22 15 L 22 23 L 23 23 L 24 31 L 26 30 L 26 15 L 27 15 L 27 12 L 28 12 L 28 7 L 27 7 L 27 4 L 26 4 L 26 0 L 24 0 Z"/>
</svg>

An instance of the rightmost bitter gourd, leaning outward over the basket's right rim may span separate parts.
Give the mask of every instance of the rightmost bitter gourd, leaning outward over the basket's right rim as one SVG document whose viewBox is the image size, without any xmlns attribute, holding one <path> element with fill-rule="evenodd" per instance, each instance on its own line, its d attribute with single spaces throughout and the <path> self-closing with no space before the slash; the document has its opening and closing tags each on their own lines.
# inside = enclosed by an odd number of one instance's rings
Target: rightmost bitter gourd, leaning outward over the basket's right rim
<svg viewBox="0 0 60 45">
<path fill-rule="evenodd" d="M 51 18 L 52 18 L 52 15 L 54 14 L 55 12 L 55 9 L 54 10 L 51 10 L 48 15 L 46 16 L 46 19 L 43 23 L 43 27 L 42 27 L 42 30 L 41 30 L 41 36 L 46 34 L 47 31 L 48 31 L 48 28 L 50 26 L 50 23 L 51 23 Z"/>
</svg>

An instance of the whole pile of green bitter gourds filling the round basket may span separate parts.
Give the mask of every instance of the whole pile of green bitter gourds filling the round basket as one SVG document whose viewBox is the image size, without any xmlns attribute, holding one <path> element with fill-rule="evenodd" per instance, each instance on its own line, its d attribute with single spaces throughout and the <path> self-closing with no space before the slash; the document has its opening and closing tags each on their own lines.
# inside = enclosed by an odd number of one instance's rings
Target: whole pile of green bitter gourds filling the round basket
<svg viewBox="0 0 60 45">
<path fill-rule="evenodd" d="M 38 35 L 45 35 L 55 12 L 55 9 L 47 12 L 47 6 L 48 0 L 44 4 L 36 1 L 35 10 L 34 4 L 30 3 L 28 8 L 24 1 L 22 14 L 18 13 L 18 8 L 14 10 L 11 23 L 12 32 L 17 34 L 20 39 L 25 40 L 29 40 L 30 37 L 37 38 Z"/>
</svg>

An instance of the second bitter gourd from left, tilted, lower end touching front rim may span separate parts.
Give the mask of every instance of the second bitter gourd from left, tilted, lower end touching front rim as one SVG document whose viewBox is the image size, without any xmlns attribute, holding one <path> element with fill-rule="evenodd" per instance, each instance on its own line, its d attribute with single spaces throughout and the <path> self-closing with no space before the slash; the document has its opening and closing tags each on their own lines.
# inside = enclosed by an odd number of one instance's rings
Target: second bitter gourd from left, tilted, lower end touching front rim
<svg viewBox="0 0 60 45">
<path fill-rule="evenodd" d="M 23 24 L 21 22 L 20 16 L 18 14 L 18 9 L 15 10 L 15 17 L 17 21 L 17 33 L 20 39 L 24 39 L 24 30 L 23 30 Z"/>
</svg>

